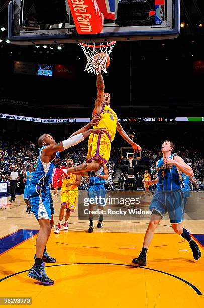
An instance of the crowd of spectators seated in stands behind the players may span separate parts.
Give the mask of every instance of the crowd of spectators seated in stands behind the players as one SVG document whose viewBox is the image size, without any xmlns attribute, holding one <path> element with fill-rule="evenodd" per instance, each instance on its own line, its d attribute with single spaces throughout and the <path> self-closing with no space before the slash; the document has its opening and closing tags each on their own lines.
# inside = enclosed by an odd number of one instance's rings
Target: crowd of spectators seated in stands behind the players
<svg viewBox="0 0 204 308">
<path fill-rule="evenodd" d="M 8 181 L 8 174 L 12 170 L 13 166 L 17 166 L 17 171 L 21 175 L 18 183 L 19 192 L 23 192 L 23 172 L 27 170 L 27 167 L 31 164 L 34 169 L 37 164 L 38 157 L 38 146 L 31 141 L 1 141 L 0 140 L 0 182 Z M 194 180 L 198 184 L 198 190 L 204 190 L 204 158 L 202 154 L 193 148 L 188 147 L 185 149 L 180 146 L 176 151 L 184 161 L 192 167 L 194 172 Z M 69 148 L 65 151 L 64 157 L 62 158 L 62 165 L 66 165 L 66 160 L 72 158 L 74 165 L 79 165 L 86 161 L 87 143 L 81 143 L 78 146 Z M 63 153 L 61 153 L 61 156 Z M 149 166 L 148 172 L 151 174 L 152 179 L 157 177 L 156 172 L 156 161 L 162 156 L 161 149 L 154 148 L 148 149 L 143 146 L 142 161 L 145 165 Z M 120 149 L 118 147 L 112 147 L 110 161 L 107 163 L 109 171 L 109 179 L 105 181 L 105 187 L 107 190 L 114 190 L 114 168 L 120 163 Z M 144 189 L 143 185 L 144 173 L 138 172 L 136 174 L 136 181 L 138 189 Z M 122 179 L 123 178 L 123 179 Z M 119 181 L 119 189 L 124 189 L 124 183 L 127 178 L 127 174 L 121 175 Z M 79 189 L 87 189 L 88 180 L 86 177 L 81 177 L 81 185 Z M 191 189 L 196 189 L 194 185 L 191 185 Z M 156 189 L 156 185 L 152 186 L 152 189 Z"/>
</svg>

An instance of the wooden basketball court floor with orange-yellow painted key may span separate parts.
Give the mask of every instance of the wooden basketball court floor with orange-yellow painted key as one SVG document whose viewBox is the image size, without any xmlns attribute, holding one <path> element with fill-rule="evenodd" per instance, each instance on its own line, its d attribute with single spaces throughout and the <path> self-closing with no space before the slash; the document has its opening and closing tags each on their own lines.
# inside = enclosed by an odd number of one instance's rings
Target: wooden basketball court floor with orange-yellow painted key
<svg viewBox="0 0 204 308">
<path fill-rule="evenodd" d="M 196 194 L 202 202 L 202 192 Z M 56 226 L 60 195 L 53 201 Z M 38 223 L 25 210 L 23 195 L 12 204 L 9 197 L 0 198 L 0 297 L 31 297 L 33 307 L 203 307 L 204 259 L 194 261 L 168 220 L 156 230 L 146 267 L 136 267 L 132 259 L 140 252 L 148 220 L 105 221 L 102 229 L 95 220 L 94 232 L 88 233 L 88 221 L 78 220 L 76 210 L 68 232 L 55 234 L 53 227 L 47 251 L 57 262 L 46 263 L 46 273 L 54 285 L 43 286 L 27 277 Z M 184 227 L 203 253 L 203 221 L 185 220 Z"/>
</svg>

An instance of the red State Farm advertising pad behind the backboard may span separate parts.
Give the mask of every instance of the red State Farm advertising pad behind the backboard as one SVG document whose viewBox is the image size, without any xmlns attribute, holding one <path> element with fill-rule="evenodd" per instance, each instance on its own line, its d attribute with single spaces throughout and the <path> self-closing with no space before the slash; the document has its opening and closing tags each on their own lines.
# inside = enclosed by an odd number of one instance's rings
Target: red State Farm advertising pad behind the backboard
<svg viewBox="0 0 204 308">
<path fill-rule="evenodd" d="M 78 34 L 101 33 L 104 15 L 96 0 L 67 0 Z"/>
</svg>

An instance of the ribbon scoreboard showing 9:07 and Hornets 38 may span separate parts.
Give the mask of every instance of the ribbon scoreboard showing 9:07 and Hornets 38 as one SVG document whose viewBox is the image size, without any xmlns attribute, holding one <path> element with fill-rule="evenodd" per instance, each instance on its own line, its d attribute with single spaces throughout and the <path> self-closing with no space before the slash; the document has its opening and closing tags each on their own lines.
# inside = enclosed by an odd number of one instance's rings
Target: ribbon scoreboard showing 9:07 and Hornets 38
<svg viewBox="0 0 204 308">
<path fill-rule="evenodd" d="M 175 122 L 204 122 L 204 117 L 155 117 L 155 118 L 119 118 L 119 122 L 126 123 L 147 123 L 147 122 L 160 122 L 160 123 L 175 123 Z"/>
</svg>

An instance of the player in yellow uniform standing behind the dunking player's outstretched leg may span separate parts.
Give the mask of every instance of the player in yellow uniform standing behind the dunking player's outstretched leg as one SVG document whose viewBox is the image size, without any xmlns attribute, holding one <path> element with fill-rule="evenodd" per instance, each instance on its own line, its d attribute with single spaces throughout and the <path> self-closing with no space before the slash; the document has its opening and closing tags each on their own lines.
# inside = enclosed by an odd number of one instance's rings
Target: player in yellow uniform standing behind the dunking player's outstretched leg
<svg viewBox="0 0 204 308">
<path fill-rule="evenodd" d="M 67 160 L 67 166 L 73 166 L 73 160 Z M 64 210 L 66 208 L 65 221 L 63 225 L 64 230 L 68 230 L 68 219 L 71 212 L 74 212 L 76 203 L 78 200 L 78 185 L 81 184 L 81 177 L 76 174 L 67 174 L 67 177 L 63 180 L 62 193 L 61 193 L 61 208 L 59 211 L 59 222 L 55 230 L 55 233 L 59 233 L 62 229 L 62 219 L 64 217 Z M 55 196 L 57 195 L 57 189 L 55 190 Z"/>
</svg>

